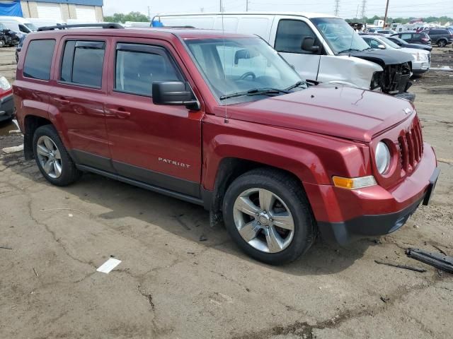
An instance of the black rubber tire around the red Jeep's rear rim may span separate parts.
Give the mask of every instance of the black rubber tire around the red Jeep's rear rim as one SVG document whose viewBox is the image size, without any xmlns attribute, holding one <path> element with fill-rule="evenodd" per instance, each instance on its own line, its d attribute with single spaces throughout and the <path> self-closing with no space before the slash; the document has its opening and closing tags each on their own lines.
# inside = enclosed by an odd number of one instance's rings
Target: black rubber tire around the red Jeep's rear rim
<svg viewBox="0 0 453 339">
<path fill-rule="evenodd" d="M 38 139 L 42 136 L 47 136 L 48 138 L 50 138 L 59 150 L 62 163 L 62 174 L 57 178 L 50 177 L 45 172 L 45 169 L 43 168 L 39 160 Z M 70 185 L 81 177 L 82 172 L 77 169 L 76 165 L 74 165 L 74 162 L 72 161 L 69 153 L 67 152 L 66 148 L 64 148 L 64 145 L 58 136 L 57 130 L 52 125 L 40 126 L 38 127 L 38 129 L 36 129 L 33 136 L 33 154 L 35 155 L 36 164 L 38 165 L 38 168 L 40 169 L 42 175 L 45 177 L 45 179 L 47 179 L 48 182 L 54 184 L 55 186 Z"/>
</svg>

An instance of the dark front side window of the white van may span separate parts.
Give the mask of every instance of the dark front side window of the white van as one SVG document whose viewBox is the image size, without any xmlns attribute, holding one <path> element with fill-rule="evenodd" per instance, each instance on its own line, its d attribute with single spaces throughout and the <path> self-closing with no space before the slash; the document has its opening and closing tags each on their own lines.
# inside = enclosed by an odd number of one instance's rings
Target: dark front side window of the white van
<svg viewBox="0 0 453 339">
<path fill-rule="evenodd" d="M 304 37 L 313 37 L 316 44 L 316 35 L 304 21 L 280 20 L 275 37 L 275 49 L 277 52 L 312 54 L 302 49 Z"/>
</svg>

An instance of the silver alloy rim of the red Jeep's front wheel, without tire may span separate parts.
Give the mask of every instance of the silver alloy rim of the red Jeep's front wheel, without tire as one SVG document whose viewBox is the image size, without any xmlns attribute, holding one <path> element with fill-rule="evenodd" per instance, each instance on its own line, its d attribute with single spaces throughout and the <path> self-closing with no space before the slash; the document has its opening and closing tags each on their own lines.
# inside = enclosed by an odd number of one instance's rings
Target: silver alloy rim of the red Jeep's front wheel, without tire
<svg viewBox="0 0 453 339">
<path fill-rule="evenodd" d="M 247 189 L 234 202 L 236 228 L 258 251 L 277 253 L 291 244 L 294 218 L 282 199 L 266 189 Z"/>
</svg>

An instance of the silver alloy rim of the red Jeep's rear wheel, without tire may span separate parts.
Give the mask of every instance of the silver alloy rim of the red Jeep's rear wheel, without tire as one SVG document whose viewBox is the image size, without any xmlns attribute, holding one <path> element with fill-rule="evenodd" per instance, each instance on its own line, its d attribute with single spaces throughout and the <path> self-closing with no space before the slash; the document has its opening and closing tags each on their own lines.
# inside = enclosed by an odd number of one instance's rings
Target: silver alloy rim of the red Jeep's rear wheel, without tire
<svg viewBox="0 0 453 339">
<path fill-rule="evenodd" d="M 36 153 L 44 172 L 52 179 L 62 175 L 62 157 L 57 145 L 48 136 L 41 136 L 36 143 Z"/>
</svg>

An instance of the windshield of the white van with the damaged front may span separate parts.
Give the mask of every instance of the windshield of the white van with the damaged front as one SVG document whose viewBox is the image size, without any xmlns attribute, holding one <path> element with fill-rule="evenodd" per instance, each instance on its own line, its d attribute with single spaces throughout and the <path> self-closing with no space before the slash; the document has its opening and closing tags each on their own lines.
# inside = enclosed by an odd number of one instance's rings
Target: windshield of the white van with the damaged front
<svg viewBox="0 0 453 339">
<path fill-rule="evenodd" d="M 321 31 L 333 53 L 363 51 L 368 44 L 350 25 L 340 18 L 314 18 L 311 22 Z"/>
</svg>

